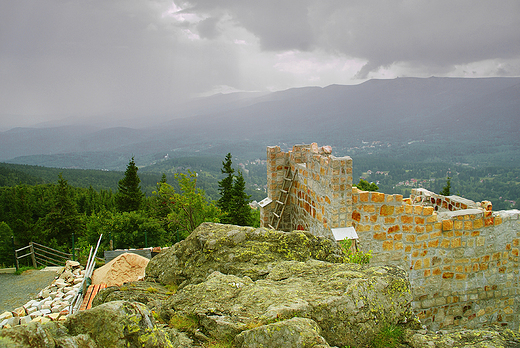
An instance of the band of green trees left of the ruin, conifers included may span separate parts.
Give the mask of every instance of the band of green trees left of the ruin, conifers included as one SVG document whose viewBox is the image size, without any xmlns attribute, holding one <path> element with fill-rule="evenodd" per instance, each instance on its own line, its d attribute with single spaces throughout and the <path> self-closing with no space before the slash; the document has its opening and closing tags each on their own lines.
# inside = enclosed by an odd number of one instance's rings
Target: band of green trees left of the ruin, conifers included
<svg viewBox="0 0 520 348">
<path fill-rule="evenodd" d="M 114 248 L 172 245 L 205 221 L 258 226 L 259 212 L 249 206 L 231 154 L 222 165 L 218 201 L 208 199 L 197 185 L 199 174 L 191 171 L 175 173 L 171 184 L 163 174 L 147 197 L 134 158 L 116 192 L 71 186 L 61 173 L 54 184 L 0 187 L 0 265 L 13 264 L 12 236 L 17 248 L 32 241 L 70 252 L 74 234 L 76 247 L 86 253 L 100 234 L 103 251 L 110 240 Z"/>
</svg>

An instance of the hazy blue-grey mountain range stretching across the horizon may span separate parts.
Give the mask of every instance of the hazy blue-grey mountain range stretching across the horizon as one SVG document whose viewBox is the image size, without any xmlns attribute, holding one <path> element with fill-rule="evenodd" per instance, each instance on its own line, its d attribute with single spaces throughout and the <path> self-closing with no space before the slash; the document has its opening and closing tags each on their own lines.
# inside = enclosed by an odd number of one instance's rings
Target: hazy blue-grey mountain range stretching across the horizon
<svg viewBox="0 0 520 348">
<path fill-rule="evenodd" d="M 89 160 L 80 167 L 123 169 L 131 155 L 141 165 L 166 154 L 251 158 L 264 157 L 267 145 L 318 142 L 337 155 L 518 165 L 520 78 L 397 78 L 215 95 L 133 127 L 88 122 L 2 132 L 0 161 L 77 167 L 82 156 Z"/>
</svg>

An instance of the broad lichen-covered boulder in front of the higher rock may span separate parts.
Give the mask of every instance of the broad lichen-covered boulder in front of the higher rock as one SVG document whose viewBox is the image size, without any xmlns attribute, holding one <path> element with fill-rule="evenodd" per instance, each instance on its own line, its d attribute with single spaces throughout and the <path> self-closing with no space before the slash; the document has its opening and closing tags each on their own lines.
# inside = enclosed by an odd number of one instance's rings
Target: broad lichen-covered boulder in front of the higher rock
<svg viewBox="0 0 520 348">
<path fill-rule="evenodd" d="M 307 318 L 316 323 L 328 344 L 360 347 L 385 325 L 416 324 L 411 300 L 406 272 L 397 267 L 282 261 L 257 281 L 215 271 L 204 282 L 187 285 L 171 296 L 161 315 L 168 321 L 196 316 L 199 329 L 217 340 L 295 317 Z M 277 347 L 276 342 L 265 346 Z"/>
</svg>

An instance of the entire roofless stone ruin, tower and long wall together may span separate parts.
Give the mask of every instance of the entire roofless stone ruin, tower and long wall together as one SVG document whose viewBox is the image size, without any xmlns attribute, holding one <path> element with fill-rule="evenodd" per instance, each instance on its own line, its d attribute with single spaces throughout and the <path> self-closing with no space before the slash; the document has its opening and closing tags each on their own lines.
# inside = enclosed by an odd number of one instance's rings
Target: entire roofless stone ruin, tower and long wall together
<svg viewBox="0 0 520 348">
<path fill-rule="evenodd" d="M 431 330 L 519 329 L 520 211 L 425 189 L 409 198 L 361 191 L 352 187 L 352 159 L 331 152 L 316 143 L 267 148 L 262 226 L 357 234 L 371 264 L 408 272 L 415 312 Z"/>
</svg>

